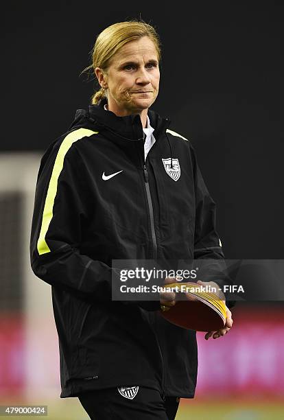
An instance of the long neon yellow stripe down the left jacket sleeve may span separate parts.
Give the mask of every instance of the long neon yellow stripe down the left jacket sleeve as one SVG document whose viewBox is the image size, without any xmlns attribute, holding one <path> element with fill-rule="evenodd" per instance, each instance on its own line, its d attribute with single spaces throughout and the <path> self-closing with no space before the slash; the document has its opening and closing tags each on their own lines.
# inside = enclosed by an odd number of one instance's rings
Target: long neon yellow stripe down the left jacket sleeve
<svg viewBox="0 0 284 420">
<path fill-rule="evenodd" d="M 62 141 L 56 160 L 54 162 L 54 169 L 52 170 L 51 178 L 49 180 L 49 187 L 47 189 L 47 196 L 45 198 L 45 207 L 43 209 L 43 221 L 41 223 L 40 235 L 38 237 L 38 254 L 50 253 L 47 243 L 45 242 L 45 235 L 47 234 L 49 224 L 53 217 L 54 200 L 57 193 L 58 178 L 63 169 L 64 157 L 71 145 L 82 139 L 83 137 L 89 137 L 93 134 L 98 134 L 97 131 L 88 130 L 87 128 L 78 128 L 73 132 L 70 132 Z"/>
</svg>

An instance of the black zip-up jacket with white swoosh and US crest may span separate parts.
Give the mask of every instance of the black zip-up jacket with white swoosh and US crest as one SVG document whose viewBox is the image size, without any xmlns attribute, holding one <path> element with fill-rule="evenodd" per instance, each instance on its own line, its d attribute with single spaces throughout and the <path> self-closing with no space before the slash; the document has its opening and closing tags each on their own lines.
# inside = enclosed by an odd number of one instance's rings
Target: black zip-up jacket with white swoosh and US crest
<svg viewBox="0 0 284 420">
<path fill-rule="evenodd" d="M 52 286 L 61 397 L 123 385 L 193 397 L 196 332 L 164 320 L 158 302 L 112 301 L 112 259 L 223 259 L 215 202 L 168 119 L 149 110 L 156 142 L 144 163 L 139 115 L 103 105 L 77 111 L 36 185 L 31 264 Z"/>
</svg>

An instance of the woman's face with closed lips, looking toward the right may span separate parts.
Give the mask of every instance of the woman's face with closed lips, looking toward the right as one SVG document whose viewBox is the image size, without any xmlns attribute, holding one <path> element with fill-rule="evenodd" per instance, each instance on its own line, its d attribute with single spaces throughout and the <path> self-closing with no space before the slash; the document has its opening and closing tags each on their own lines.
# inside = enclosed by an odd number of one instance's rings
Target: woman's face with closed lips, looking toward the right
<svg viewBox="0 0 284 420">
<path fill-rule="evenodd" d="M 101 86 L 106 86 L 108 109 L 116 115 L 147 110 L 158 95 L 160 71 L 152 40 L 143 36 L 123 45 L 110 60 L 107 74 L 96 69 Z"/>
</svg>

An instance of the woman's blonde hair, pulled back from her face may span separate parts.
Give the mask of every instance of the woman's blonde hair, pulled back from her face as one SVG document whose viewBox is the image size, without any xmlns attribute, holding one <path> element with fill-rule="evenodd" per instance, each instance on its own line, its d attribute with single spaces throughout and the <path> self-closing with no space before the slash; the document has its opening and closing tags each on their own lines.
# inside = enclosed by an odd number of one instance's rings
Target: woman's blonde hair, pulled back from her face
<svg viewBox="0 0 284 420">
<path fill-rule="evenodd" d="M 91 69 L 93 69 L 95 73 L 96 67 L 99 67 L 107 73 L 110 60 L 115 53 L 126 43 L 129 43 L 132 40 L 138 40 L 143 36 L 147 36 L 152 40 L 156 47 L 158 61 L 160 61 L 161 41 L 154 27 L 143 21 L 119 22 L 106 27 L 106 29 L 97 36 L 97 40 L 91 51 L 92 64 L 86 67 L 82 73 Z M 101 88 L 92 96 L 92 104 L 97 104 L 103 97 L 106 97 L 106 91 L 104 88 Z"/>
</svg>

